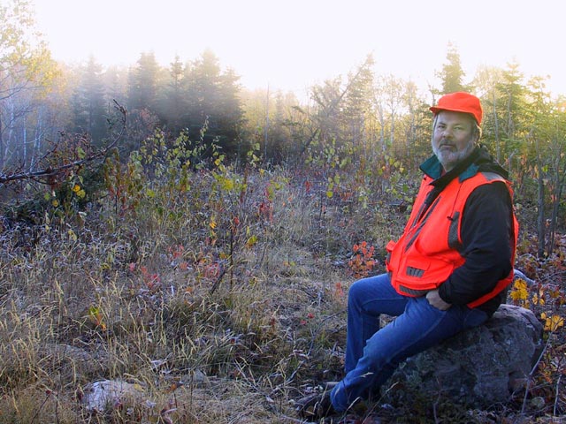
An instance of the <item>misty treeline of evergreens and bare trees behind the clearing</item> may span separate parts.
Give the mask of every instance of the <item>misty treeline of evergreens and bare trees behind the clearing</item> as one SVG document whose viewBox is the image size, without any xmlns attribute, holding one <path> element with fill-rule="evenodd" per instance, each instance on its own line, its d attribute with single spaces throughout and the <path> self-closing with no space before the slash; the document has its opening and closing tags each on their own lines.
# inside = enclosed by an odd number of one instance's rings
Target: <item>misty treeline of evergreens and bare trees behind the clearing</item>
<svg viewBox="0 0 566 424">
<path fill-rule="evenodd" d="M 318 170 L 379 168 L 403 163 L 413 169 L 430 154 L 431 115 L 438 96 L 468 90 L 485 108 L 482 140 L 511 171 L 518 199 L 539 211 L 539 254 L 547 220 L 554 234 L 564 215 L 566 102 L 552 97 L 545 79 L 526 79 L 517 63 L 482 67 L 466 79 L 457 49 L 449 45 L 438 87 L 424 91 L 410 80 L 375 72 L 365 58 L 348 75 L 310 87 L 306 99 L 293 93 L 241 87 L 232 69 L 222 69 L 211 51 L 172 64 L 142 53 L 129 68 L 57 64 L 34 34 L 25 2 L 0 5 L 0 168 L 34 170 L 61 140 L 88 140 L 103 147 L 113 140 L 114 106 L 127 110 L 124 158 L 158 129 L 167 140 L 181 133 L 235 162 L 250 151 L 264 166 L 285 163 Z M 30 42 L 34 40 L 34 42 Z M 210 147 L 210 149 L 209 149 Z M 323 172 L 324 173 L 324 172 Z"/>
</svg>

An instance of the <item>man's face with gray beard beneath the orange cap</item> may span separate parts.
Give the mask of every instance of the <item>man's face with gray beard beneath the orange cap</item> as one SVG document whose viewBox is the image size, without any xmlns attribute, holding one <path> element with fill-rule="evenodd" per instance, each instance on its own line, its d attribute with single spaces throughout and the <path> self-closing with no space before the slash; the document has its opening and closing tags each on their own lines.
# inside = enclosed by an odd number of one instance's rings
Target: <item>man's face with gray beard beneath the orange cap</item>
<svg viewBox="0 0 566 424">
<path fill-rule="evenodd" d="M 445 170 L 452 170 L 474 149 L 475 123 L 466 113 L 442 110 L 432 131 L 432 152 Z"/>
</svg>

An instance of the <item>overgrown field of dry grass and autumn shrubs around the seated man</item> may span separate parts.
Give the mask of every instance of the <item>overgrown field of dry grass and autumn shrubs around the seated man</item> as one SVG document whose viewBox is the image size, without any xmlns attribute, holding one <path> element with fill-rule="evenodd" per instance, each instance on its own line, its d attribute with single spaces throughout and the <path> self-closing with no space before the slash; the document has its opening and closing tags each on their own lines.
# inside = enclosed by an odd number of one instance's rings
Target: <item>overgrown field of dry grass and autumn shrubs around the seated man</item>
<svg viewBox="0 0 566 424">
<path fill-rule="evenodd" d="M 0 422 L 301 422 L 294 400 L 340 376 L 348 285 L 383 271 L 413 177 L 146 159 L 107 163 L 96 195 L 73 174 L 27 220 L 4 216 Z M 525 229 L 517 268 L 540 284 L 509 301 L 559 317 L 528 394 L 540 401 L 523 393 L 468 422 L 562 422 L 566 239 L 544 261 L 534 244 Z M 93 410 L 101 380 L 131 390 Z M 348 422 L 448 422 L 432 405 L 382 421 L 366 407 Z"/>
</svg>

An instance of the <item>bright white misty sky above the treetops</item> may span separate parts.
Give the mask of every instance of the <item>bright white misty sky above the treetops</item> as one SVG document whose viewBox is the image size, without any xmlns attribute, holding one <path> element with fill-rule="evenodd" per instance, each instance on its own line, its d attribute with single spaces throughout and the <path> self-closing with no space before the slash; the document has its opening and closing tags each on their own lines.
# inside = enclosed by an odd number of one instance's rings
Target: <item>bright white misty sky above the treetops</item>
<svg viewBox="0 0 566 424">
<path fill-rule="evenodd" d="M 32 0 L 57 60 L 90 55 L 134 64 L 153 51 L 160 64 L 211 49 L 245 87 L 301 93 L 346 75 L 372 53 L 379 74 L 434 84 L 452 42 L 466 71 L 516 60 L 525 77 L 550 75 L 566 95 L 562 0 Z"/>
</svg>

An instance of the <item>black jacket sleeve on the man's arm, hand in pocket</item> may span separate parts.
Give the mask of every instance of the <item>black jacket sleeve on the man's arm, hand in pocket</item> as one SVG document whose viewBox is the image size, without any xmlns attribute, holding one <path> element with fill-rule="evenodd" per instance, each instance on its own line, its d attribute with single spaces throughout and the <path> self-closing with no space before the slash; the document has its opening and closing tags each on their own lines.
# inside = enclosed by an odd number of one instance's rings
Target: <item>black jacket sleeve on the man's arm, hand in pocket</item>
<svg viewBox="0 0 566 424">
<path fill-rule="evenodd" d="M 491 292 L 512 268 L 512 204 L 507 186 L 478 186 L 466 201 L 461 228 L 463 266 L 440 285 L 440 298 L 465 305 Z"/>
</svg>

